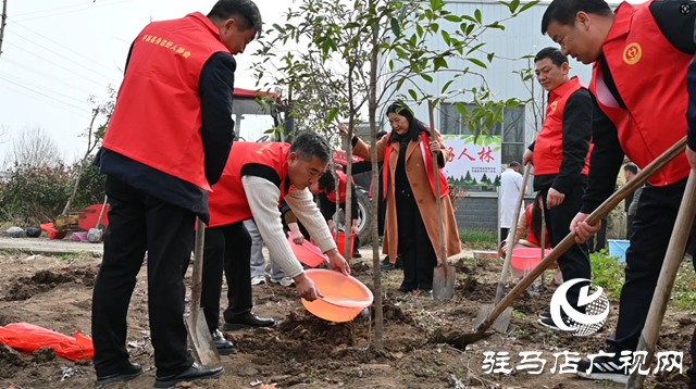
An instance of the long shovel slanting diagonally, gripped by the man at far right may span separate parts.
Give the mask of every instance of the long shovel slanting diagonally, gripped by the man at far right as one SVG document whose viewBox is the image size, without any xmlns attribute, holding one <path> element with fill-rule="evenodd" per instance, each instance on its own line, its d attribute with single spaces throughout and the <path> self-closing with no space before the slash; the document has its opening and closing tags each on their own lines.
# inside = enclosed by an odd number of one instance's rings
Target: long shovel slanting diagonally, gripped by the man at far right
<svg viewBox="0 0 696 389">
<path fill-rule="evenodd" d="M 647 165 L 641 173 L 638 173 L 634 179 L 630 180 L 621 187 L 618 191 L 616 191 L 609 199 L 607 199 L 599 208 L 597 208 L 585 222 L 591 226 L 596 225 L 601 221 L 611 210 L 613 210 L 621 201 L 623 201 L 630 193 L 632 193 L 636 188 L 641 185 L 645 184 L 652 175 L 657 172 L 661 171 L 664 166 L 667 166 L 670 162 L 676 159 L 679 155 L 684 153 L 686 148 L 686 137 L 682 138 L 679 142 L 672 146 L 669 150 L 663 152 L 660 156 L 658 156 L 655 161 L 652 161 L 649 165 Z M 524 290 L 532 285 L 534 279 L 538 277 L 544 271 L 546 271 L 554 261 L 558 260 L 568 249 L 570 249 L 573 244 L 575 244 L 575 233 L 570 233 L 563 240 L 558 243 L 554 250 L 542 261 L 534 269 L 524 276 L 520 280 L 518 285 L 508 292 L 508 294 L 500 301 L 493 311 L 488 314 L 485 321 L 474 326 L 473 332 L 467 332 L 462 336 L 458 337 L 459 344 L 461 347 L 465 347 L 467 344 L 478 341 L 483 338 L 490 336 L 486 334 L 486 330 L 490 328 L 494 321 L 505 311 L 508 306 L 512 304 L 512 302 L 520 297 L 524 292 Z"/>
</svg>

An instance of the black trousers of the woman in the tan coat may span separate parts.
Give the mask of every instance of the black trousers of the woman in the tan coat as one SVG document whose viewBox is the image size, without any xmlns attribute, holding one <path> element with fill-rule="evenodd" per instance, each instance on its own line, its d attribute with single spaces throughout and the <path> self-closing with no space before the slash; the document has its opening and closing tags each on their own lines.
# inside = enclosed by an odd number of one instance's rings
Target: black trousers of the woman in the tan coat
<svg viewBox="0 0 696 389">
<path fill-rule="evenodd" d="M 433 289 L 433 269 L 437 266 L 437 255 L 413 193 L 397 193 L 396 214 L 399 230 L 399 253 L 403 262 L 401 287 L 431 290 Z"/>
</svg>

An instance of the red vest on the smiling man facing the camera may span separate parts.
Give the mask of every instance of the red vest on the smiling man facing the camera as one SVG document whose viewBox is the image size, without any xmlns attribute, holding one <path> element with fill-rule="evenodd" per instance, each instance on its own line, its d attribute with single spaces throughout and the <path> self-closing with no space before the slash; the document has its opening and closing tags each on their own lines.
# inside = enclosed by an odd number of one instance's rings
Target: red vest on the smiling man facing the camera
<svg viewBox="0 0 696 389">
<path fill-rule="evenodd" d="M 573 77 L 568 83 L 551 90 L 546 106 L 544 127 L 534 146 L 534 174 L 558 174 L 563 162 L 563 113 L 568 99 L 581 88 L 586 88 L 580 78 Z M 589 152 L 585 159 L 585 167 L 581 174 L 589 173 Z"/>
</svg>

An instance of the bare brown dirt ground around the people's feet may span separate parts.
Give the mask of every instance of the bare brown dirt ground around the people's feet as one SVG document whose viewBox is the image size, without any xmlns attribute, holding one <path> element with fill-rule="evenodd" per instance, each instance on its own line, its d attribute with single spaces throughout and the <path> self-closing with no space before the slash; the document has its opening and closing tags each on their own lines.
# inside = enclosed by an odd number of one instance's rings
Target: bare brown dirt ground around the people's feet
<svg viewBox="0 0 696 389">
<path fill-rule="evenodd" d="M 24 242 L 20 242 L 23 240 Z M 29 239 L 15 239 L 14 244 Z M 100 246 L 50 242 L 54 249 L 98 252 Z M 70 244 L 70 249 L 67 249 Z M 44 256 L 11 251 L 0 239 L 0 326 L 26 322 L 73 335 L 90 334 L 91 289 L 100 259 L 92 255 Z M 85 249 L 83 249 L 85 248 Z M 58 250 L 60 251 L 60 250 Z M 353 276 L 372 286 L 370 250 L 352 262 Z M 468 252 L 471 256 L 471 252 Z M 455 298 L 434 302 L 430 298 L 397 291 L 402 274 L 384 273 L 385 351 L 377 354 L 370 344 L 368 322 L 332 324 L 309 314 L 294 288 L 254 287 L 254 312 L 282 321 L 277 329 L 227 331 L 239 353 L 223 356 L 226 374 L 219 380 L 186 384 L 187 388 L 253 388 L 277 384 L 277 388 L 605 388 L 612 382 L 581 380 L 573 374 L 551 374 L 552 353 L 564 350 L 597 353 L 616 325 L 618 301 L 607 325 L 589 337 L 576 338 L 540 327 L 537 314 L 548 309 L 552 290 L 540 297 L 524 296 L 514 303 L 514 317 L 507 334 L 471 344 L 465 351 L 437 343 L 438 328 L 468 331 L 476 312 L 495 294 L 495 279 L 501 266 L 492 260 L 457 260 Z M 548 278 L 548 277 L 547 277 Z M 189 279 L 187 279 L 187 283 Z M 138 276 L 128 315 L 128 349 L 132 361 L 147 372 L 136 380 L 111 388 L 151 388 L 154 380 L 152 347 L 149 342 L 146 267 Z M 223 296 L 225 292 L 223 292 Z M 223 299 L 223 306 L 227 302 Z M 683 351 L 683 368 L 691 366 L 688 346 L 696 319 L 686 312 L 668 310 L 659 350 Z M 547 361 L 540 375 L 513 371 L 510 375 L 484 373 L 483 353 L 510 353 L 510 365 L 521 362 L 520 351 L 540 351 Z M 558 364 L 564 363 L 559 357 Z M 95 387 L 91 362 L 73 363 L 52 355 L 21 355 L 0 348 L 0 388 L 90 388 Z M 683 374 L 650 376 L 646 387 L 686 388 Z"/>
</svg>

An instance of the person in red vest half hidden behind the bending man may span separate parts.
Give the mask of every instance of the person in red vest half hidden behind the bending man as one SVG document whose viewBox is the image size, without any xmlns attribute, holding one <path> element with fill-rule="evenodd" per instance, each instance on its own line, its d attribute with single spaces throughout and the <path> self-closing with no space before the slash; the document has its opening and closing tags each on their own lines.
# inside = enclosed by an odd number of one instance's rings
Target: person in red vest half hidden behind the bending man
<svg viewBox="0 0 696 389">
<path fill-rule="evenodd" d="M 326 223 L 328 223 L 328 229 L 332 231 L 335 230 L 333 217 L 336 213 L 336 203 L 338 203 L 338 206 L 344 211 L 344 213 L 346 212 L 346 188 L 348 186 L 348 176 L 343 172 L 343 166 L 336 168 L 336 175 L 338 176 L 338 185 L 336 185 L 334 175 L 331 174 L 331 172 L 326 172 L 320 181 L 310 188 L 312 195 L 319 197 L 319 209 L 321 210 L 322 215 L 324 215 Z M 360 248 L 360 238 L 358 236 L 360 234 L 360 229 L 358 226 L 358 192 L 356 191 L 355 180 L 350 186 L 350 219 L 352 221 L 350 233 L 356 235 L 353 240 L 352 258 L 362 258 L 358 250 Z M 343 249 L 344 248 L 339 248 L 339 250 Z"/>
</svg>

